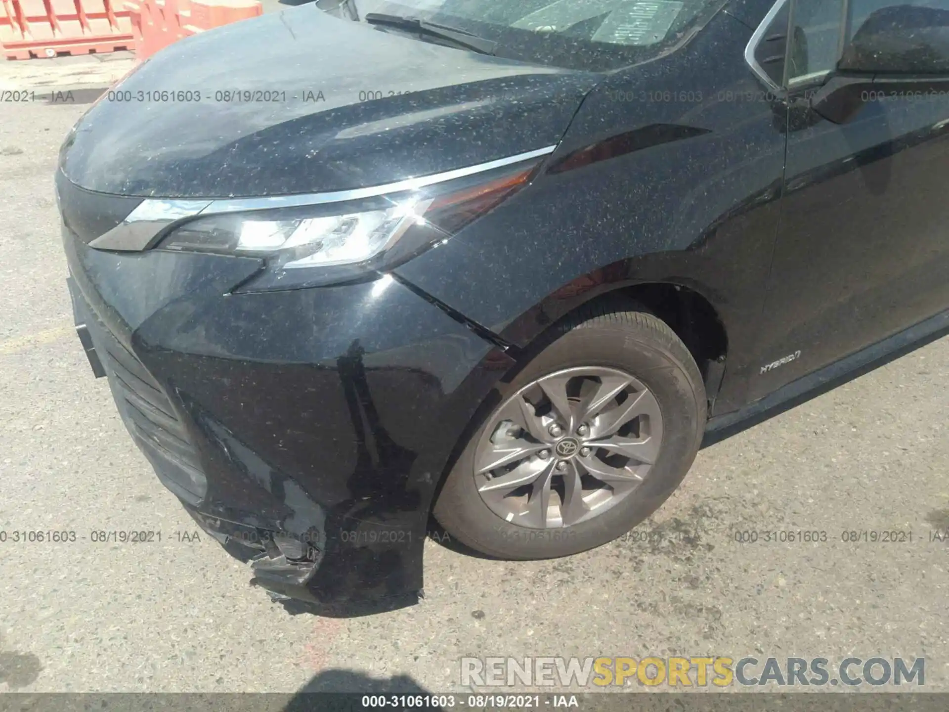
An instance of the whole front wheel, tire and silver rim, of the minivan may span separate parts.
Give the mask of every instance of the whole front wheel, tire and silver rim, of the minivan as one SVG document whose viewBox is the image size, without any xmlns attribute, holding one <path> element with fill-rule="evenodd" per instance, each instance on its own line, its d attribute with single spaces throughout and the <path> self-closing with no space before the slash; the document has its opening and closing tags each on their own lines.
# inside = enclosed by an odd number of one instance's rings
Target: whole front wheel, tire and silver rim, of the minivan
<svg viewBox="0 0 949 712">
<path fill-rule="evenodd" d="M 628 532 L 679 486 L 706 419 L 698 366 L 644 311 L 558 325 L 468 442 L 435 505 L 481 553 L 544 559 Z"/>
</svg>

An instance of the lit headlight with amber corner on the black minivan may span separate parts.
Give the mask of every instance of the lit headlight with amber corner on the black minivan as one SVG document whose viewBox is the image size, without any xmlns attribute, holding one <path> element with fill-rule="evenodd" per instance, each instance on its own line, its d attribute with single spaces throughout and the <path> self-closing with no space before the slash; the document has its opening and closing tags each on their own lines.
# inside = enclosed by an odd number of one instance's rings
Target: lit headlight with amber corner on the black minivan
<svg viewBox="0 0 949 712">
<path fill-rule="evenodd" d="M 361 279 L 455 234 L 527 184 L 536 165 L 359 201 L 198 215 L 173 226 L 158 249 L 265 258 L 267 269 L 242 290 Z"/>
</svg>

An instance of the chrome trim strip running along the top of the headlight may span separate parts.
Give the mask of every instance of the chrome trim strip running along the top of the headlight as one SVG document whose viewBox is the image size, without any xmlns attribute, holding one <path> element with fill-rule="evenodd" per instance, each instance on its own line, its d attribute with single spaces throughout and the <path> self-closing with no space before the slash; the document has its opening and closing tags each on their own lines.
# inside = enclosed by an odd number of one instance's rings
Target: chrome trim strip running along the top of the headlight
<svg viewBox="0 0 949 712">
<path fill-rule="evenodd" d="M 489 160 L 453 171 L 445 171 L 418 178 L 405 178 L 393 183 L 374 185 L 368 188 L 335 191 L 331 193 L 308 193 L 293 196 L 269 197 L 233 197 L 233 198 L 195 198 L 169 199 L 146 198 L 122 220 L 120 225 L 89 243 L 97 250 L 116 252 L 140 252 L 148 248 L 155 237 L 168 225 L 184 217 L 195 215 L 220 215 L 223 213 L 243 213 L 274 208 L 298 208 L 307 205 L 326 205 L 327 203 L 360 200 L 366 197 L 379 197 L 390 193 L 403 193 L 418 190 L 429 185 L 474 176 L 495 168 L 519 163 L 523 160 L 539 159 L 549 156 L 556 145 L 538 148 L 535 151 L 509 156 L 506 159 Z"/>
</svg>

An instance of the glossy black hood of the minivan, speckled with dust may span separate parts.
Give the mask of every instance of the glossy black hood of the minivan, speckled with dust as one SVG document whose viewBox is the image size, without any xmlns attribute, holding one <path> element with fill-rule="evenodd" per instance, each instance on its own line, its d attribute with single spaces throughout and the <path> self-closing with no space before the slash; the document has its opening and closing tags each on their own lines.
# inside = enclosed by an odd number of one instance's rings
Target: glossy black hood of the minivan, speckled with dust
<svg viewBox="0 0 949 712">
<path fill-rule="evenodd" d="M 76 124 L 61 166 L 87 190 L 126 196 L 363 188 L 555 144 L 601 77 L 307 5 L 158 52 Z"/>
</svg>

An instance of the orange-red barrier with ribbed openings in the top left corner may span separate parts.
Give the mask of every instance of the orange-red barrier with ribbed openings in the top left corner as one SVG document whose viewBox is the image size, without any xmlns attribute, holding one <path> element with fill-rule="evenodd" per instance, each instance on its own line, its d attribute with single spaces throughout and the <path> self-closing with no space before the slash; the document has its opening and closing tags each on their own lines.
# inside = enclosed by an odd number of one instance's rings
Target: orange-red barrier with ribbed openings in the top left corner
<svg viewBox="0 0 949 712">
<path fill-rule="evenodd" d="M 0 0 L 0 47 L 7 59 L 131 49 L 127 9 L 114 0 Z"/>
</svg>

